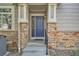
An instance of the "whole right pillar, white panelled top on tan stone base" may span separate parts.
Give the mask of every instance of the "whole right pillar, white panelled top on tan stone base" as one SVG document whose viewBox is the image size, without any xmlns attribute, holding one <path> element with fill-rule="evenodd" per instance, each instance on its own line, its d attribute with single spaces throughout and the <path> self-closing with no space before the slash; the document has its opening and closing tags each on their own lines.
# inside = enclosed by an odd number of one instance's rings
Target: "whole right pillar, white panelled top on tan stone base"
<svg viewBox="0 0 79 59">
<path fill-rule="evenodd" d="M 56 47 L 56 27 L 56 4 L 48 4 L 48 44 L 53 48 Z"/>
</svg>

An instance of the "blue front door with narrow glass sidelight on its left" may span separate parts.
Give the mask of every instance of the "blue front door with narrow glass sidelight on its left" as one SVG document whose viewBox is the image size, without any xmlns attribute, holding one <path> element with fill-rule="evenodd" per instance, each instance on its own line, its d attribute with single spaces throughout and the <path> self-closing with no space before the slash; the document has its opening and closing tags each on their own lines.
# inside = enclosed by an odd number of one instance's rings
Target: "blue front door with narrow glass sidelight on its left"
<svg viewBox="0 0 79 59">
<path fill-rule="evenodd" d="M 32 16 L 31 18 L 31 38 L 44 39 L 44 16 Z"/>
</svg>

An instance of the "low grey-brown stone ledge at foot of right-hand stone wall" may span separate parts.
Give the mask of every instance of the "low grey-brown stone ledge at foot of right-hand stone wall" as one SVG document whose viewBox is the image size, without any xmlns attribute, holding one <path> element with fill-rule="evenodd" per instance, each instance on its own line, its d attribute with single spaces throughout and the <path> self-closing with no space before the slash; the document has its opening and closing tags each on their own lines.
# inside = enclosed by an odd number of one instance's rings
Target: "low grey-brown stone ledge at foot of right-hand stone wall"
<svg viewBox="0 0 79 59">
<path fill-rule="evenodd" d="M 49 49 L 50 56 L 73 56 L 75 50 L 70 49 Z"/>
</svg>

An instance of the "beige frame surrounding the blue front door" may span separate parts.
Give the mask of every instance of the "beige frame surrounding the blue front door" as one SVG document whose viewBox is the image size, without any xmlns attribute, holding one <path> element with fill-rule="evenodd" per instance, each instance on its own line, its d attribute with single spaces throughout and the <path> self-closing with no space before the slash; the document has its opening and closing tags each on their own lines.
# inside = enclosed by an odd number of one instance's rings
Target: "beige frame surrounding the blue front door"
<svg viewBox="0 0 79 59">
<path fill-rule="evenodd" d="M 30 39 L 45 39 L 45 31 L 44 31 L 44 37 L 32 37 L 32 27 L 31 27 L 31 20 L 32 16 L 43 16 L 44 17 L 44 30 L 46 28 L 46 20 L 45 20 L 45 14 L 30 14 Z"/>
</svg>

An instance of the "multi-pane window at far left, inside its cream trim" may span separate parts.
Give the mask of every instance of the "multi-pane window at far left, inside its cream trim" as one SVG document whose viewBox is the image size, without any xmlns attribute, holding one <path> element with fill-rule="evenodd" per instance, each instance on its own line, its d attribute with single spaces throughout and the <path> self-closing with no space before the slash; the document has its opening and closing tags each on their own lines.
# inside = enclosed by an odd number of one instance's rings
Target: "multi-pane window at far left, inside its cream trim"
<svg viewBox="0 0 79 59">
<path fill-rule="evenodd" d="M 2 8 L 3 7 L 3 8 Z M 0 29 L 12 29 L 13 13 L 11 6 L 0 6 Z"/>
</svg>

